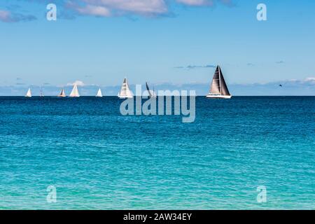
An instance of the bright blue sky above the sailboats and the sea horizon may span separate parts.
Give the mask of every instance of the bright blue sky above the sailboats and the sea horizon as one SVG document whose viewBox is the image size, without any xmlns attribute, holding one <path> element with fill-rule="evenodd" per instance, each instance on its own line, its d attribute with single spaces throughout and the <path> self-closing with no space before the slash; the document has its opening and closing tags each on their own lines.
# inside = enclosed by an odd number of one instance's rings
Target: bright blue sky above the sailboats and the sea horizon
<svg viewBox="0 0 315 224">
<path fill-rule="evenodd" d="M 46 19 L 48 3 L 56 21 Z M 258 3 L 267 21 L 257 20 Z M 288 82 L 315 94 L 314 8 L 309 0 L 1 0 L 0 94 L 75 81 L 119 88 L 125 77 L 207 86 L 217 64 L 241 94 L 254 94 L 244 85 Z"/>
</svg>

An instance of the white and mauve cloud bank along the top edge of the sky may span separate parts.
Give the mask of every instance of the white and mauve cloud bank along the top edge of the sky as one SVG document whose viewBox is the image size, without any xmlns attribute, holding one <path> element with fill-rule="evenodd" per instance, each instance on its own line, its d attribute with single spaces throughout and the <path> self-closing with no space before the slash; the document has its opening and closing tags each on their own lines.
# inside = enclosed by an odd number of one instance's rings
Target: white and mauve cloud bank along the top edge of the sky
<svg viewBox="0 0 315 224">
<path fill-rule="evenodd" d="M 55 3 L 61 18 L 73 18 L 76 15 L 94 17 L 112 17 L 122 15 L 139 15 L 155 17 L 167 15 L 171 3 L 187 7 L 213 7 L 216 3 L 225 6 L 232 6 L 232 0 L 20 0 L 30 3 Z M 0 22 L 20 22 L 36 20 L 34 15 L 23 15 L 14 13 L 13 7 L 7 6 L 10 10 L 0 8 Z M 14 7 L 15 10 L 17 9 Z M 19 8 L 19 7 L 18 7 Z M 62 12 L 62 13 L 60 13 Z M 69 16 L 69 13 L 73 14 Z M 67 15 L 66 17 L 63 16 Z"/>
</svg>

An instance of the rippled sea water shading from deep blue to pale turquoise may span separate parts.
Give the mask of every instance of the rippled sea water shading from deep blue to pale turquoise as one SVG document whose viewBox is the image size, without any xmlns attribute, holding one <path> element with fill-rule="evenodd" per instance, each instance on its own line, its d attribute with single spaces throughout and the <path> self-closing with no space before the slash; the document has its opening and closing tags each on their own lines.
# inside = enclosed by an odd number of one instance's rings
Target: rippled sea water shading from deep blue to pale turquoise
<svg viewBox="0 0 315 224">
<path fill-rule="evenodd" d="M 119 106 L 0 97 L 0 209 L 315 209 L 315 97 L 197 97 L 195 123 Z"/>
</svg>

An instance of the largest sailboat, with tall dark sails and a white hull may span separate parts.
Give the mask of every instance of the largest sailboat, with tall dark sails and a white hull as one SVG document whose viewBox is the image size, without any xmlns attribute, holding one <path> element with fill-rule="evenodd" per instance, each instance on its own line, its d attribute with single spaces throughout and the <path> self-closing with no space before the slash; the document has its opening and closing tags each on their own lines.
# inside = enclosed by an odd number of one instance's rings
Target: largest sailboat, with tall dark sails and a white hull
<svg viewBox="0 0 315 224">
<path fill-rule="evenodd" d="M 228 90 L 228 85 L 225 83 L 221 68 L 217 66 L 207 98 L 231 99 L 231 97 L 232 95 Z"/>
</svg>

